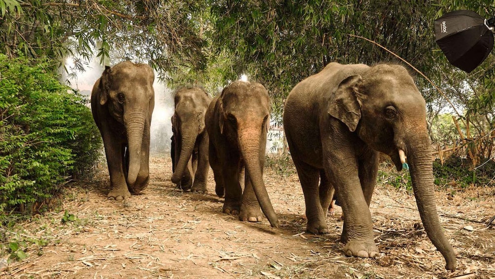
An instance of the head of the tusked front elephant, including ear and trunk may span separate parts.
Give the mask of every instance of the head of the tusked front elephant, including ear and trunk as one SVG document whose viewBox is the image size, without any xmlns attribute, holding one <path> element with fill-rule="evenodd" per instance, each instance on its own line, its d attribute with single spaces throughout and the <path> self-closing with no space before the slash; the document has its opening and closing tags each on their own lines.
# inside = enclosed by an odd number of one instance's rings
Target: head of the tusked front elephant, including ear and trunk
<svg viewBox="0 0 495 279">
<path fill-rule="evenodd" d="M 347 77 L 332 95 L 328 113 L 374 150 L 388 154 L 397 170 L 402 169 L 407 156 L 425 231 L 445 257 L 446 269 L 455 269 L 455 254 L 435 205 L 425 100 L 406 69 L 380 64 Z"/>
</svg>

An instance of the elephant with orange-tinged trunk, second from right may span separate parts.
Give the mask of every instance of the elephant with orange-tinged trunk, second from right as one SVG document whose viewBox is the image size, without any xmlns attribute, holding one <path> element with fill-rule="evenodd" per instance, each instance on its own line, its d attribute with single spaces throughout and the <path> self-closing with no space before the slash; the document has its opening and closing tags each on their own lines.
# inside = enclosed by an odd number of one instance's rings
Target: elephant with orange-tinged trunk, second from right
<svg viewBox="0 0 495 279">
<path fill-rule="evenodd" d="M 236 81 L 211 101 L 206 111 L 209 159 L 223 212 L 241 221 L 261 222 L 261 210 L 273 227 L 278 219 L 263 182 L 270 102 L 259 83 Z M 244 173 L 244 179 L 243 179 Z M 244 184 L 244 193 L 242 185 Z"/>
</svg>

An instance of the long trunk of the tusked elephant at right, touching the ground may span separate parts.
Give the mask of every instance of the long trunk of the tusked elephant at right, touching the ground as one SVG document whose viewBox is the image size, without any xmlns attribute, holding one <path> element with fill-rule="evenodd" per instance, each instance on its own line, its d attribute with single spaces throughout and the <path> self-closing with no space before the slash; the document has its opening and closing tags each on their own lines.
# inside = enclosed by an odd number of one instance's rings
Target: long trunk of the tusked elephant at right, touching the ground
<svg viewBox="0 0 495 279">
<path fill-rule="evenodd" d="M 447 240 L 437 215 L 430 141 L 425 132 L 418 132 L 406 143 L 411 181 L 425 231 L 446 260 L 446 269 L 455 270 L 455 253 Z"/>
</svg>

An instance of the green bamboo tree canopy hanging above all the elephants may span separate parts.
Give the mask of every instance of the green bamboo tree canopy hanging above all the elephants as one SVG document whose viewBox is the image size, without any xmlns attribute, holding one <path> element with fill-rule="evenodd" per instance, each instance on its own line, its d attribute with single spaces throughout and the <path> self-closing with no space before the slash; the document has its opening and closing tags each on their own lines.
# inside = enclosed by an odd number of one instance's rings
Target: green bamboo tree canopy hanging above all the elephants
<svg viewBox="0 0 495 279">
<path fill-rule="evenodd" d="M 456 9 L 491 17 L 491 0 L 0 0 L 0 48 L 10 57 L 49 57 L 54 66 L 96 49 L 102 63 L 148 62 L 173 86 L 215 94 L 247 74 L 270 91 L 280 121 L 291 88 L 327 63 L 400 62 L 438 85 L 417 83 L 431 112 L 452 104 L 493 126 L 493 56 L 473 73 L 451 66 L 435 43 L 433 20 Z M 448 101 L 448 102 L 447 102 Z M 488 123 L 488 124 L 487 124 Z"/>
</svg>

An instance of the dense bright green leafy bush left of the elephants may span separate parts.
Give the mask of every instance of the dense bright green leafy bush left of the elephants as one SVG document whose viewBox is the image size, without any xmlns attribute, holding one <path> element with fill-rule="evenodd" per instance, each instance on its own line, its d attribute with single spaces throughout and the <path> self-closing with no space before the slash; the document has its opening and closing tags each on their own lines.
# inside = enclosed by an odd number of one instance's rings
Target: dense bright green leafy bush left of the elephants
<svg viewBox="0 0 495 279">
<path fill-rule="evenodd" d="M 40 209 L 93 166 L 101 139 L 85 103 L 48 63 L 0 55 L 0 222 Z"/>
</svg>

